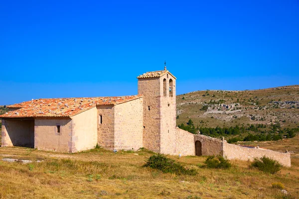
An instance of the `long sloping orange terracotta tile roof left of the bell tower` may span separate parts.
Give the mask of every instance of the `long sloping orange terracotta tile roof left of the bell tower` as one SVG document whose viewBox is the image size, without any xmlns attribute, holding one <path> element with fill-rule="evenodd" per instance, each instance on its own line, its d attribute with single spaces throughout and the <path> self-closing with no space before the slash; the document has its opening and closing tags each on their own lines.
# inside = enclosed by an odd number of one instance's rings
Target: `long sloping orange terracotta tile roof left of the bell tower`
<svg viewBox="0 0 299 199">
<path fill-rule="evenodd" d="M 0 118 L 71 117 L 97 105 L 116 105 L 142 98 L 142 95 L 98 98 L 56 98 L 24 101 L 8 108 L 20 108 L 0 115 Z"/>
</svg>

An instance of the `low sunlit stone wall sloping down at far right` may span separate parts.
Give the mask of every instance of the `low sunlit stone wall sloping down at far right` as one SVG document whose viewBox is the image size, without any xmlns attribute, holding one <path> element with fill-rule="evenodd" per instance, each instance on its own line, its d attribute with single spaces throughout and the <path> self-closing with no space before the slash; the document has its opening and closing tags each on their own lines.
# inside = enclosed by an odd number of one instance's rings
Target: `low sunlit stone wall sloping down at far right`
<svg viewBox="0 0 299 199">
<path fill-rule="evenodd" d="M 235 144 L 229 144 L 226 141 L 223 142 L 223 156 L 227 159 L 239 159 L 239 160 L 254 160 L 254 158 L 261 158 L 263 156 L 269 157 L 278 161 L 286 167 L 291 167 L 290 153 L 281 153 L 268 149 L 248 148 L 238 146 Z"/>
</svg>

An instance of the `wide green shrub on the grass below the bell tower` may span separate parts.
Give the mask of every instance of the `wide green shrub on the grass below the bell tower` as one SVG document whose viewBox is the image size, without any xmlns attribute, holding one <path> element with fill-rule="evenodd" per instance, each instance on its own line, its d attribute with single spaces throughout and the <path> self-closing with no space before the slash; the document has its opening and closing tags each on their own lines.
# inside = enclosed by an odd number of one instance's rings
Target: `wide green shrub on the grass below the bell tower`
<svg viewBox="0 0 299 199">
<path fill-rule="evenodd" d="M 197 174 L 195 169 L 186 169 L 180 163 L 177 163 L 174 160 L 167 158 L 165 155 L 162 154 L 150 156 L 149 159 L 146 161 L 144 167 L 150 167 L 152 169 L 158 169 L 163 173 L 171 173 L 177 175 L 194 176 Z"/>
</svg>

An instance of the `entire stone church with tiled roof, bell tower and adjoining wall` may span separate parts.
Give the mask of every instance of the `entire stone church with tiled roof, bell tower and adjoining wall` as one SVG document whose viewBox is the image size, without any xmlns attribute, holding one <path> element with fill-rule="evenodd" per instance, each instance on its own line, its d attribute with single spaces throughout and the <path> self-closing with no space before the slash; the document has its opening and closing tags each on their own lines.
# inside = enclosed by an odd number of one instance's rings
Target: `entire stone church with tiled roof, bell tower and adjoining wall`
<svg viewBox="0 0 299 199">
<path fill-rule="evenodd" d="M 78 152 L 97 144 L 110 150 L 170 155 L 222 155 L 252 160 L 269 156 L 291 166 L 290 153 L 228 144 L 176 127 L 176 78 L 166 70 L 138 78 L 138 95 L 30 100 L 8 105 L 2 118 L 1 147 Z"/>
</svg>

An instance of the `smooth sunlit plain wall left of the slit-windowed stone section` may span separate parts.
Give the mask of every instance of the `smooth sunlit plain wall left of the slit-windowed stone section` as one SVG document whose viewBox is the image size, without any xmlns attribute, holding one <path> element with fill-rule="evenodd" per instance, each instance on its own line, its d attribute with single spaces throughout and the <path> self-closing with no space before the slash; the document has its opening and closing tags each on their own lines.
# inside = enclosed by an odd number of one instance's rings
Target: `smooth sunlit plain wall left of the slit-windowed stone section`
<svg viewBox="0 0 299 199">
<path fill-rule="evenodd" d="M 92 149 L 97 145 L 97 108 L 93 107 L 72 117 L 72 152 Z"/>
</svg>

